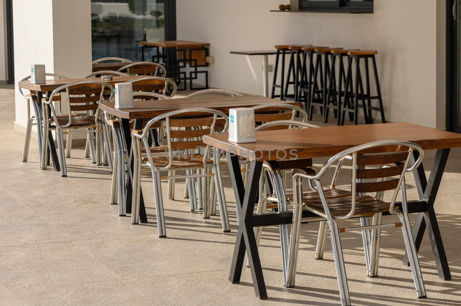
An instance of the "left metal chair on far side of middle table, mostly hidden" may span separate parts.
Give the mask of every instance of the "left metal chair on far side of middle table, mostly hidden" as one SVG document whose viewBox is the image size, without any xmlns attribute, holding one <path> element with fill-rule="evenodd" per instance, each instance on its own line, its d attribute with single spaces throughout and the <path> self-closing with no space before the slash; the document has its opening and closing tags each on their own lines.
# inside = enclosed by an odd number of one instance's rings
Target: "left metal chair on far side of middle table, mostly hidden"
<svg viewBox="0 0 461 306">
<path fill-rule="evenodd" d="M 137 100 L 138 97 L 145 99 L 146 97 L 157 98 L 159 100 L 169 100 L 169 96 L 164 96 L 155 92 L 146 92 L 146 91 L 136 91 L 133 92 L 133 99 Z M 111 101 L 113 102 L 113 98 Z M 112 185 L 111 185 L 111 204 L 117 204 L 117 194 L 118 194 L 118 215 L 126 215 L 126 206 L 125 206 L 125 166 L 126 160 L 128 160 L 129 153 L 127 153 L 126 144 L 122 136 L 122 128 L 120 122 L 117 118 L 109 118 L 107 113 L 104 113 L 104 119 L 106 124 L 112 128 L 113 131 L 113 140 L 115 143 L 114 150 L 114 159 L 112 167 Z M 133 129 L 134 123 L 130 123 L 130 129 Z M 165 146 L 164 146 L 165 148 Z M 164 150 L 165 152 L 165 150 Z M 145 152 L 144 152 L 145 153 Z M 119 171 L 121 169 L 121 171 Z M 131 173 L 128 171 L 128 173 Z M 121 199 L 121 200 L 120 200 Z"/>
</svg>

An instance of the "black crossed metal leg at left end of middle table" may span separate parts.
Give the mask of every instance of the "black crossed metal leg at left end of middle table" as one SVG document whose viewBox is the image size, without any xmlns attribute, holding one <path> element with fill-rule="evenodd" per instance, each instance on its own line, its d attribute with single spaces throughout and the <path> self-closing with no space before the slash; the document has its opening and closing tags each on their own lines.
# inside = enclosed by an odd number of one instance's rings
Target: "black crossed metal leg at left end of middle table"
<svg viewBox="0 0 461 306">
<path fill-rule="evenodd" d="M 126 150 L 129 152 L 128 158 L 128 177 L 126 178 L 126 212 L 131 213 L 131 199 L 133 195 L 133 182 L 131 181 L 131 177 L 133 176 L 133 165 L 135 160 L 133 159 L 133 150 L 131 150 L 131 129 L 130 129 L 130 122 L 128 119 L 120 119 L 121 126 L 122 126 L 122 134 L 126 144 Z M 136 119 L 134 127 L 135 130 L 142 129 L 142 119 Z M 144 198 L 142 197 L 142 188 L 140 189 L 140 196 L 139 196 L 139 221 L 141 223 L 147 223 L 147 215 L 146 215 L 146 208 L 144 206 Z"/>
</svg>

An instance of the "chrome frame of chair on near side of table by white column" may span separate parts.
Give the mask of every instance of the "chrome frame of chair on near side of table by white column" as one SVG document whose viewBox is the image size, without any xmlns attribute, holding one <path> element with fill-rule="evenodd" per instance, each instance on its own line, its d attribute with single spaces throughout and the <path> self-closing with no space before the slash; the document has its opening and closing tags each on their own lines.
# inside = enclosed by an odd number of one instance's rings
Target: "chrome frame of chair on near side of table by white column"
<svg viewBox="0 0 461 306">
<path fill-rule="evenodd" d="M 109 140 L 108 140 L 108 131 L 107 131 L 107 126 L 105 124 L 105 122 L 103 121 L 103 119 L 100 117 L 100 109 L 97 108 L 96 109 L 96 113 L 95 113 L 95 125 L 82 125 L 82 126 L 78 126 L 77 129 L 74 129 L 73 127 L 71 127 L 72 125 L 72 113 L 71 113 L 71 102 L 69 100 L 69 88 L 70 87 L 73 87 L 73 86 L 76 86 L 76 85 L 84 85 L 84 84 L 98 84 L 98 85 L 101 85 L 101 92 L 100 92 L 100 98 L 99 98 L 99 101 L 98 101 L 98 104 L 102 101 L 103 99 L 103 93 L 104 91 L 107 89 L 109 89 L 111 91 L 111 95 L 109 97 L 109 99 L 112 99 L 112 97 L 114 96 L 114 89 L 111 85 L 107 84 L 107 83 L 104 83 L 104 82 L 100 82 L 100 81 L 94 81 L 94 80 L 88 80 L 88 81 L 77 81 L 77 82 L 73 82 L 73 83 L 69 83 L 69 84 L 66 84 L 66 85 L 62 85 L 62 86 L 59 86 L 58 88 L 56 88 L 52 93 L 51 95 L 49 96 L 49 98 L 43 98 L 41 100 L 42 102 L 42 112 L 43 112 L 43 137 L 42 137 L 42 145 L 41 145 L 41 150 L 42 150 L 42 156 L 47 156 L 47 149 L 48 149 L 48 146 L 47 146 L 47 143 L 48 143 L 48 130 L 50 129 L 50 125 L 49 124 L 46 124 L 49 119 L 48 119 L 48 106 L 51 106 L 49 107 L 49 109 L 51 109 L 51 114 L 53 116 L 53 119 L 54 119 L 54 128 L 56 129 L 56 138 L 57 138 L 57 141 L 58 141 L 58 151 L 59 151 L 59 163 L 61 164 L 61 176 L 62 177 L 66 177 L 67 176 L 67 169 L 66 169 L 66 165 L 65 165 L 65 153 L 64 153 L 64 147 L 63 147 L 63 135 L 64 135 L 64 131 L 63 130 L 71 130 L 71 131 L 66 131 L 65 133 L 66 134 L 74 134 L 74 133 L 97 133 L 96 134 L 96 147 L 103 147 L 103 146 L 98 146 L 99 142 L 100 142 L 100 137 L 99 137 L 99 133 L 102 132 L 103 133 L 103 141 L 106 145 L 106 154 L 107 154 L 107 159 L 109 161 L 109 167 L 111 168 L 112 170 L 112 151 L 110 151 L 108 148 L 110 147 L 109 145 Z M 69 115 L 69 122 L 65 125 L 59 125 L 58 123 L 58 118 L 57 118 L 57 115 L 56 115 L 56 112 L 54 110 L 54 105 L 53 105 L 53 97 L 55 95 L 57 95 L 58 93 L 62 92 L 62 91 L 65 91 L 66 92 L 66 99 L 67 99 L 67 107 L 68 107 L 68 115 Z M 79 130 L 81 128 L 86 128 L 86 130 Z M 93 128 L 96 128 L 96 130 L 93 130 Z M 101 128 L 101 129 L 99 129 Z M 110 152 L 109 152 L 110 151 Z M 98 153 L 96 154 L 96 161 L 98 163 L 98 161 L 101 160 L 101 150 L 98 150 Z M 41 160 L 41 169 L 42 170 L 46 170 L 47 169 L 47 162 L 46 162 L 46 159 L 42 159 Z"/>
</svg>

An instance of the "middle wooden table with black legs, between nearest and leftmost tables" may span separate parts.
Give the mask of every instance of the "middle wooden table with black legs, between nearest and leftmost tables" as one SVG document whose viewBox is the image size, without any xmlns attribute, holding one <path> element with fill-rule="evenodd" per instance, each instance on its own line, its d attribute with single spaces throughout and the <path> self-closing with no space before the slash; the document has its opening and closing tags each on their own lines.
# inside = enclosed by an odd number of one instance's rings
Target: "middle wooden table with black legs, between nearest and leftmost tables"
<svg viewBox="0 0 461 306">
<path fill-rule="evenodd" d="M 207 98 L 180 98 L 171 100 L 146 100 L 134 101 L 134 108 L 118 109 L 115 108 L 115 103 L 100 103 L 99 108 L 108 114 L 119 118 L 122 135 L 126 144 L 127 150 L 131 150 L 131 129 L 130 119 L 136 119 L 133 129 L 142 130 L 142 123 L 144 120 L 149 120 L 163 113 L 170 111 L 184 109 L 184 108 L 212 108 L 215 110 L 229 113 L 230 108 L 239 107 L 252 107 L 260 104 L 271 104 L 279 101 L 266 98 L 263 96 L 222 96 L 222 97 L 207 97 Z M 292 105 L 300 106 L 301 103 L 293 102 Z M 124 156 L 124 154 L 118 154 Z M 132 156 L 132 154 L 130 154 Z M 133 173 L 134 160 L 132 157 L 128 161 L 129 171 Z M 119 186 L 120 187 L 120 186 Z M 119 189 L 120 190 L 120 189 Z M 126 212 L 131 212 L 131 196 L 132 196 L 132 181 L 130 176 L 126 180 Z M 144 208 L 144 199 L 142 197 L 142 190 L 140 194 L 140 210 L 139 220 L 141 223 L 147 222 L 146 210 Z"/>
</svg>

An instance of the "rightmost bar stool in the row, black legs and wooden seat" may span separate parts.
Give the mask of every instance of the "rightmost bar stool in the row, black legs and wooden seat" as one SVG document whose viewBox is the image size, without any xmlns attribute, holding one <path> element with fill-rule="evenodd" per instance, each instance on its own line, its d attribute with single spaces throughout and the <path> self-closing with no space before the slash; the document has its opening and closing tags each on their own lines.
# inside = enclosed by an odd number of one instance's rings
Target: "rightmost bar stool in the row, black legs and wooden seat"
<svg viewBox="0 0 461 306">
<path fill-rule="evenodd" d="M 352 59 L 355 58 L 355 88 L 353 92 L 346 92 L 344 95 L 344 102 L 343 102 L 343 112 L 341 117 L 341 125 L 344 124 L 344 113 L 348 111 L 349 113 L 353 113 L 354 115 L 354 124 L 357 124 L 357 112 L 358 112 L 358 103 L 361 100 L 363 108 L 363 114 L 365 117 L 365 122 L 367 124 L 373 123 L 372 121 L 372 110 L 379 111 L 381 114 L 381 122 L 385 123 L 386 119 L 384 117 L 384 107 L 383 107 L 383 99 L 381 97 L 381 88 L 379 87 L 379 79 L 378 79 L 378 69 L 376 68 L 376 59 L 375 54 L 378 54 L 378 51 L 375 50 L 363 50 L 363 51 L 348 51 L 349 61 L 348 61 L 348 72 L 346 77 L 346 85 L 345 88 L 348 88 L 349 85 L 352 83 Z M 372 96 L 370 93 L 370 75 L 369 75 L 369 68 L 368 68 L 368 59 L 372 59 L 373 65 L 373 74 L 375 78 L 375 85 L 377 95 Z M 361 71 L 360 71 L 360 60 L 365 60 L 365 82 L 366 82 L 366 92 L 363 91 L 363 82 L 361 78 Z M 359 91 L 359 86 L 360 88 Z M 348 98 L 353 97 L 353 105 L 349 104 Z M 378 100 L 378 107 L 373 107 L 371 104 L 371 100 Z M 365 103 L 367 101 L 367 104 Z"/>
</svg>

